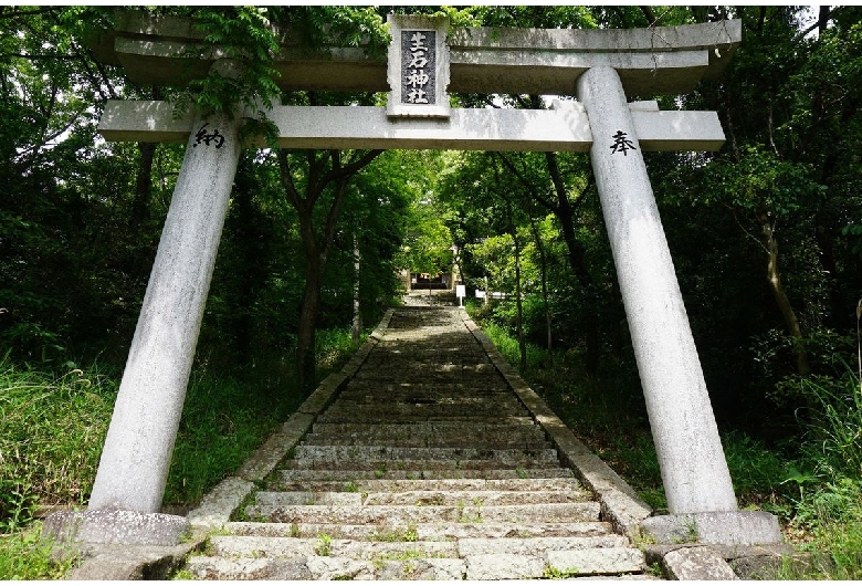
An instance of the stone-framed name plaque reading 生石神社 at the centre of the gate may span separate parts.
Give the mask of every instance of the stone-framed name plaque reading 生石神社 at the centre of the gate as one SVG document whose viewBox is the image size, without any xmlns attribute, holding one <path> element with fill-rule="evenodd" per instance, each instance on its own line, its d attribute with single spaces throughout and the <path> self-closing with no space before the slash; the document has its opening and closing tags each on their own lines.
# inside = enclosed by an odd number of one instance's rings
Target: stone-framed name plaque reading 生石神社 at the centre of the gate
<svg viewBox="0 0 862 586">
<path fill-rule="evenodd" d="M 446 19 L 390 14 L 387 114 L 397 117 L 450 115 Z"/>
</svg>

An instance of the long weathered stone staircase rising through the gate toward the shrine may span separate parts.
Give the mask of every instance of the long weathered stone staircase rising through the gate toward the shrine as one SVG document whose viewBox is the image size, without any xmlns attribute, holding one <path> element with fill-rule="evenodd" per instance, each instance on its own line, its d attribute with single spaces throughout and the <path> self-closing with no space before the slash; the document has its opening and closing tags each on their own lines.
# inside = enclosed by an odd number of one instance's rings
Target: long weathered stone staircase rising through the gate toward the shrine
<svg viewBox="0 0 862 586">
<path fill-rule="evenodd" d="M 653 577 L 486 346 L 456 307 L 396 310 L 187 576 Z"/>
</svg>

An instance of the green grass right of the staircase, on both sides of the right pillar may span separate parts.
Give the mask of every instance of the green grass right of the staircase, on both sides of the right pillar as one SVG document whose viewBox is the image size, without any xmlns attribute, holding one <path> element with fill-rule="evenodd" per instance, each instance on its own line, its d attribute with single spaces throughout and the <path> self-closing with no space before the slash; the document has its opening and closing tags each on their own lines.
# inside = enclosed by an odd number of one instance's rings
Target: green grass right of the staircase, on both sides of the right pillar
<svg viewBox="0 0 862 586">
<path fill-rule="evenodd" d="M 502 327 L 483 329 L 509 364 L 517 342 Z M 666 507 L 640 383 L 630 365 L 589 377 L 576 355 L 559 353 L 545 369 L 544 352 L 528 349 L 522 375 L 596 453 L 651 506 Z M 740 507 L 775 513 L 788 541 L 810 565 L 788 565 L 785 579 L 862 579 L 862 395 L 852 373 L 803 380 L 819 406 L 800 423 L 793 446 L 778 450 L 739 431 L 722 443 Z"/>
</svg>

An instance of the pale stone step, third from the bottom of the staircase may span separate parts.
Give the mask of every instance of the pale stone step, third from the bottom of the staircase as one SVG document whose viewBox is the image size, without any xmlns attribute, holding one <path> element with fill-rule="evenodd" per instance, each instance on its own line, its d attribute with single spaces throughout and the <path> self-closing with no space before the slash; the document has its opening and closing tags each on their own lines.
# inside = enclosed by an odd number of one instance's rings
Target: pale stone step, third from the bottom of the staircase
<svg viewBox="0 0 862 586">
<path fill-rule="evenodd" d="M 452 541 L 461 538 L 501 537 L 596 537 L 613 534 L 610 523 L 411 523 L 327 524 L 327 523 L 255 523 L 234 521 L 224 529 L 232 535 L 270 537 L 317 537 L 320 534 L 341 540 L 366 541 Z"/>
</svg>

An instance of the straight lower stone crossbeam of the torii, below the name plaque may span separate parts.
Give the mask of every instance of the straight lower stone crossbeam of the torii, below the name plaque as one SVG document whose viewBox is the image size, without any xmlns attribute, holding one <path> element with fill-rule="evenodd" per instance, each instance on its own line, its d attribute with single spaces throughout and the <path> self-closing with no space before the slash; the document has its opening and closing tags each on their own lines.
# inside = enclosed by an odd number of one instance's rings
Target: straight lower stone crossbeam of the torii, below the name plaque
<svg viewBox="0 0 862 586">
<path fill-rule="evenodd" d="M 185 143 L 191 115 L 174 118 L 168 102 L 111 101 L 98 130 L 107 140 Z M 724 132 L 715 112 L 661 112 L 655 102 L 629 105 L 643 150 L 718 150 Z M 577 102 L 553 109 L 452 111 L 449 119 L 390 119 L 371 106 L 276 106 L 267 116 L 282 148 L 429 148 L 440 150 L 587 153 L 592 134 Z M 260 145 L 263 146 L 263 145 Z"/>
</svg>

